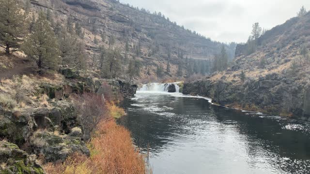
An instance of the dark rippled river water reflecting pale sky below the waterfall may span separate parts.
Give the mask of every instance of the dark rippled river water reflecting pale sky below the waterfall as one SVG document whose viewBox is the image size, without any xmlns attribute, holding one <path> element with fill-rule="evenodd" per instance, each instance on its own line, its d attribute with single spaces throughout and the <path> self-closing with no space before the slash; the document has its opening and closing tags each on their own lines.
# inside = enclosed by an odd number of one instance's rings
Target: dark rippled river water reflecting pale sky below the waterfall
<svg viewBox="0 0 310 174">
<path fill-rule="evenodd" d="M 118 120 L 154 174 L 310 174 L 310 123 L 138 92 Z"/>
</svg>

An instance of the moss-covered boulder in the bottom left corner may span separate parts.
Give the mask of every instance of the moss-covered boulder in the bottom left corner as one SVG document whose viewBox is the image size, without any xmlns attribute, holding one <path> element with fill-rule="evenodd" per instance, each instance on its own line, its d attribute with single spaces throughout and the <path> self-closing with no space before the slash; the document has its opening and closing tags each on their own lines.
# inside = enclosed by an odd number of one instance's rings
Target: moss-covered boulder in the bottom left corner
<svg viewBox="0 0 310 174">
<path fill-rule="evenodd" d="M 0 141 L 0 164 L 0 174 L 44 174 L 33 156 L 6 141 Z"/>
</svg>

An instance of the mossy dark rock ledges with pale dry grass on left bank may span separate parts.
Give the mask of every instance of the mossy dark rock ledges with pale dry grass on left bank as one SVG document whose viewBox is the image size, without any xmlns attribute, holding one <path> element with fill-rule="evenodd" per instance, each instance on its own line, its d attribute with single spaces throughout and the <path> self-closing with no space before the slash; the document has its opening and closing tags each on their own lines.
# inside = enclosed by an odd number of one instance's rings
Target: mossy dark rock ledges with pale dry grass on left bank
<svg viewBox="0 0 310 174">
<path fill-rule="evenodd" d="M 129 82 L 72 68 L 1 79 L 0 140 L 5 141 L 0 141 L 0 162 L 6 165 L 0 166 L 0 173 L 43 174 L 38 157 L 56 162 L 77 152 L 90 156 L 85 143 L 89 134 L 73 99 L 88 92 L 120 100 L 133 96 L 136 89 Z"/>
</svg>

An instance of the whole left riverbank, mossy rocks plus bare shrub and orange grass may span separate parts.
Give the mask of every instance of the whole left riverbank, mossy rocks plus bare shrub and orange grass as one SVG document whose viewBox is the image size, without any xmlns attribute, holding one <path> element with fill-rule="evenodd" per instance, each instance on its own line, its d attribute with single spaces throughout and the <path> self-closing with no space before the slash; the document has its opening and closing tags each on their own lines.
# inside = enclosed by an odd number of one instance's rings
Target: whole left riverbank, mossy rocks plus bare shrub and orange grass
<svg viewBox="0 0 310 174">
<path fill-rule="evenodd" d="M 129 131 L 115 123 L 136 85 L 91 71 L 0 80 L 0 173 L 145 174 Z"/>
</svg>

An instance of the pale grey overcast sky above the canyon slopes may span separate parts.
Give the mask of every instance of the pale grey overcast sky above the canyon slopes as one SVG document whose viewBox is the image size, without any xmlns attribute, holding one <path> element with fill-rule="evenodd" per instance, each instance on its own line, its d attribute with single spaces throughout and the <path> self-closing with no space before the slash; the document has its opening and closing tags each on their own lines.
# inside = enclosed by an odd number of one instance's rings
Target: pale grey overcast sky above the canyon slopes
<svg viewBox="0 0 310 174">
<path fill-rule="evenodd" d="M 163 13 L 171 21 L 220 42 L 246 42 L 254 22 L 271 29 L 296 16 L 310 0 L 120 0 Z"/>
</svg>

